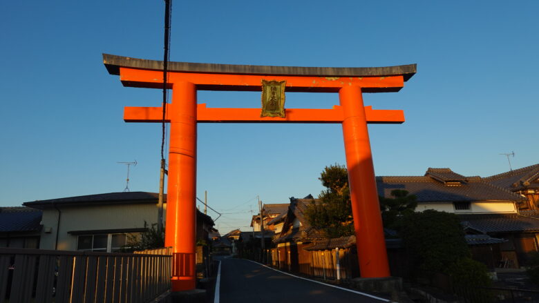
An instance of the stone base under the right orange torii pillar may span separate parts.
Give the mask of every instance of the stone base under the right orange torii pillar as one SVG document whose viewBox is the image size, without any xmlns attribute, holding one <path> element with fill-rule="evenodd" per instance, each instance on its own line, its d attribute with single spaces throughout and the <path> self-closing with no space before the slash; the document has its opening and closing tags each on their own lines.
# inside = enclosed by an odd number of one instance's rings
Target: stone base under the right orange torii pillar
<svg viewBox="0 0 539 303">
<path fill-rule="evenodd" d="M 356 277 L 350 281 L 350 288 L 388 295 L 391 300 L 397 300 L 403 292 L 401 277 Z"/>
</svg>

